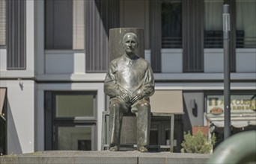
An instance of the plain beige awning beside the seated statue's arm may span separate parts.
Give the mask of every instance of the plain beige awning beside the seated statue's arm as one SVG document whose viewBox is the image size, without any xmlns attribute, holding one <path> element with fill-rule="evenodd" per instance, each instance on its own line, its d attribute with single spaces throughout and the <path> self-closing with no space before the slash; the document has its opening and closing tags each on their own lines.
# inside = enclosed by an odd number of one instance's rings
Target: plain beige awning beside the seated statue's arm
<svg viewBox="0 0 256 164">
<path fill-rule="evenodd" d="M 152 113 L 183 114 L 182 90 L 156 90 L 150 97 Z"/>
</svg>

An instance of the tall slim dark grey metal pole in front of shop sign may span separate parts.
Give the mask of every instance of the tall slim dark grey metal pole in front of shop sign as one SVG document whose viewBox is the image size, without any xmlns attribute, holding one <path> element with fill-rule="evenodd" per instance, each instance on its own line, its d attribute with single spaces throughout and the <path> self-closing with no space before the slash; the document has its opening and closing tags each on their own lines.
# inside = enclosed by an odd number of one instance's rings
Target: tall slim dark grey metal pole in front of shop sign
<svg viewBox="0 0 256 164">
<path fill-rule="evenodd" d="M 224 139 L 231 135 L 231 75 L 230 75 L 230 15 L 229 5 L 223 5 L 223 49 L 224 49 Z"/>
</svg>

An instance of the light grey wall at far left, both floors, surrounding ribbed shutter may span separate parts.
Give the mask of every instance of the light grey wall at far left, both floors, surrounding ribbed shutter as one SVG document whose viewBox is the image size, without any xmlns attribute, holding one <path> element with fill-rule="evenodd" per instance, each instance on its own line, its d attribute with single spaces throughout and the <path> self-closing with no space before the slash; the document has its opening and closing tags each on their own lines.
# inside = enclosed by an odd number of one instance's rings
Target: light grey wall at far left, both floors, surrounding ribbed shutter
<svg viewBox="0 0 256 164">
<path fill-rule="evenodd" d="M 7 88 L 7 154 L 34 152 L 34 1 L 26 1 L 26 68 L 7 70 L 0 49 L 0 86 Z"/>
</svg>

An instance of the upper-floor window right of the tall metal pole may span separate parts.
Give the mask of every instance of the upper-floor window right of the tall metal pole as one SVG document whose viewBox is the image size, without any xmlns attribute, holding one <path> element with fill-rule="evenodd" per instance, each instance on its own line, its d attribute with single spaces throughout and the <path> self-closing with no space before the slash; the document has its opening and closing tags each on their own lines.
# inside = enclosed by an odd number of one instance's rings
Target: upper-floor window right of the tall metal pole
<svg viewBox="0 0 256 164">
<path fill-rule="evenodd" d="M 237 48 L 256 47 L 256 1 L 237 0 Z"/>
</svg>

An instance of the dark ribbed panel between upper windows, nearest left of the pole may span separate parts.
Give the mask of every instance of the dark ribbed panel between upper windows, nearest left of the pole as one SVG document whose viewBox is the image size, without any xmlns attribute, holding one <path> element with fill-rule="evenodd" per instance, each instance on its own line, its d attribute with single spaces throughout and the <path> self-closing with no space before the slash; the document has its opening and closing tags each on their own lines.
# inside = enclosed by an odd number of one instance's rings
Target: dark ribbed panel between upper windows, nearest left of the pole
<svg viewBox="0 0 256 164">
<path fill-rule="evenodd" d="M 183 72 L 204 71 L 204 1 L 183 1 Z"/>
</svg>

